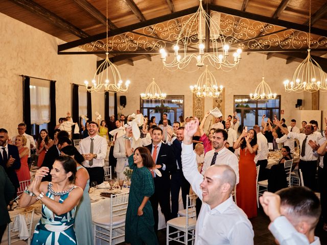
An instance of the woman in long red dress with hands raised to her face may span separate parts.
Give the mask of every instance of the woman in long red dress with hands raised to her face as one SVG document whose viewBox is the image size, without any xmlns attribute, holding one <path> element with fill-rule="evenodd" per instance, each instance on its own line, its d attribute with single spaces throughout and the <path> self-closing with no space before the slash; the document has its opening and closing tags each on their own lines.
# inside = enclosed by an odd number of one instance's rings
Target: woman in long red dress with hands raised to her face
<svg viewBox="0 0 327 245">
<path fill-rule="evenodd" d="M 258 150 L 256 132 L 243 130 L 234 143 L 233 148 L 240 151 L 239 174 L 240 182 L 236 187 L 237 205 L 246 213 L 248 218 L 256 217 L 256 168 L 254 157 Z"/>
</svg>

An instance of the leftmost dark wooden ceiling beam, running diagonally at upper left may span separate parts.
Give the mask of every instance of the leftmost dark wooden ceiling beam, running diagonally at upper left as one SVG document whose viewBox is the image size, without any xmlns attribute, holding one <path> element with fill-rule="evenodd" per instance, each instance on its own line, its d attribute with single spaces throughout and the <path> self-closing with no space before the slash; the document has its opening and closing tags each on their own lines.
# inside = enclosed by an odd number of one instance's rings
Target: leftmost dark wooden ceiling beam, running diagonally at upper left
<svg viewBox="0 0 327 245">
<path fill-rule="evenodd" d="M 81 29 L 75 27 L 73 24 L 69 23 L 68 21 L 64 20 L 63 18 L 55 15 L 54 13 L 50 12 L 49 10 L 43 8 L 42 6 L 38 5 L 37 3 L 31 0 L 10 0 L 14 4 L 48 20 L 51 24 L 59 27 L 62 30 L 65 30 L 79 38 L 86 38 L 89 35 L 86 32 L 83 32 Z"/>
</svg>

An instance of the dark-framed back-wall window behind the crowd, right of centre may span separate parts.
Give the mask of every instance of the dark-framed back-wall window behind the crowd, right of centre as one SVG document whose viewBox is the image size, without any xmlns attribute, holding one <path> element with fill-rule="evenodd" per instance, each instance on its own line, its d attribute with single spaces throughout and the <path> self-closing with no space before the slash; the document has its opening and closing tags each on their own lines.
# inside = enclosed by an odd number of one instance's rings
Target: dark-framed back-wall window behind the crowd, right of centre
<svg viewBox="0 0 327 245">
<path fill-rule="evenodd" d="M 252 128 L 255 124 L 261 126 L 262 116 L 273 119 L 281 116 L 281 95 L 268 101 L 251 100 L 248 95 L 234 95 L 234 111 L 240 118 L 240 125 Z"/>
</svg>

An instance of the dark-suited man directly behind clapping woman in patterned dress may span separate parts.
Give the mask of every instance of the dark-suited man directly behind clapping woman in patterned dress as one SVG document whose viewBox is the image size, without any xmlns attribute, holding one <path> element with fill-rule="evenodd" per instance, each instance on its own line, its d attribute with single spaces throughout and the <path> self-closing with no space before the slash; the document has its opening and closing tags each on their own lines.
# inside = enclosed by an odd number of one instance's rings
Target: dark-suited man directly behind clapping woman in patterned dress
<svg viewBox="0 0 327 245">
<path fill-rule="evenodd" d="M 58 144 L 54 144 L 53 146 L 51 146 L 51 148 L 49 148 L 48 152 L 45 153 L 44 159 L 43 159 L 43 163 L 42 163 L 42 167 L 49 167 L 49 175 L 46 175 L 45 177 L 42 178 L 42 181 L 51 181 L 51 169 L 52 169 L 52 165 L 55 162 L 55 159 L 57 157 L 60 156 L 60 150 L 62 148 L 64 148 L 67 145 L 71 145 L 72 141 L 66 137 L 60 137 L 58 138 Z"/>
</svg>

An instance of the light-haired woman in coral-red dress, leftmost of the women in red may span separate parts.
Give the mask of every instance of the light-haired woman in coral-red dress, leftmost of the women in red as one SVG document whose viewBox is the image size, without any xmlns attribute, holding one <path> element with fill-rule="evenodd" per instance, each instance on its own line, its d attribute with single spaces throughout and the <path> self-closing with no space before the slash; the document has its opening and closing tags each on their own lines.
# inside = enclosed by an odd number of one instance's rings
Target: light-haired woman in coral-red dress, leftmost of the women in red
<svg viewBox="0 0 327 245">
<path fill-rule="evenodd" d="M 15 145 L 18 148 L 20 158 L 20 168 L 16 169 L 18 181 L 30 180 L 30 168 L 27 163 L 29 157 L 29 149 L 24 147 L 26 145 L 26 137 L 24 135 L 17 135 L 15 139 Z"/>
</svg>

